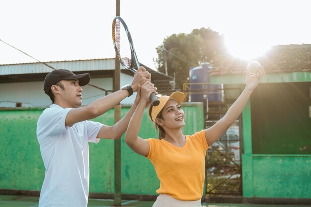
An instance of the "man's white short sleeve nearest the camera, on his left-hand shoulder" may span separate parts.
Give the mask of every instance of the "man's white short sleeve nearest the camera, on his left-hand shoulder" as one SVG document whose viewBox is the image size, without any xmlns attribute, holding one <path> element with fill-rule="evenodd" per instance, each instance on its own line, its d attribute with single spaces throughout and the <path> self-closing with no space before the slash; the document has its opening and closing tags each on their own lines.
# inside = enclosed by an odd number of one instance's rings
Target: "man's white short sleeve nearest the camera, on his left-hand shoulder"
<svg viewBox="0 0 311 207">
<path fill-rule="evenodd" d="M 66 116 L 71 108 L 48 108 L 45 109 L 38 120 L 37 133 L 42 133 L 45 137 L 55 137 L 66 132 Z"/>
</svg>

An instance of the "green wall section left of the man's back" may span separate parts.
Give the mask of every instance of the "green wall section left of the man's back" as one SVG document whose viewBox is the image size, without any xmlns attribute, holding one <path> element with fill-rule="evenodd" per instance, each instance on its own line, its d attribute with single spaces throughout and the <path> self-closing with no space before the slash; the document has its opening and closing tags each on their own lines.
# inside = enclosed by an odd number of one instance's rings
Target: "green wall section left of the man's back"
<svg viewBox="0 0 311 207">
<path fill-rule="evenodd" d="M 0 111 L 0 189 L 41 189 L 44 165 L 36 139 L 41 112 Z"/>
</svg>

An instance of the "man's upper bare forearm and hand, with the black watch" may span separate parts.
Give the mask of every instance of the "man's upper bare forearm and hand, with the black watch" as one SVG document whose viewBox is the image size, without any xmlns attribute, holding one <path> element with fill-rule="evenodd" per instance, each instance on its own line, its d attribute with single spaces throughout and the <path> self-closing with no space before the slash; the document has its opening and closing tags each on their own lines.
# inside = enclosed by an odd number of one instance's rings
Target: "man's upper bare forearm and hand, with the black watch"
<svg viewBox="0 0 311 207">
<path fill-rule="evenodd" d="M 139 68 L 134 75 L 131 87 L 133 91 L 138 89 L 138 85 L 143 84 L 145 81 L 149 81 L 151 75 L 143 67 Z M 82 122 L 88 119 L 94 119 L 109 109 L 120 103 L 124 98 L 128 96 L 127 90 L 119 90 L 102 98 L 99 98 L 87 106 L 72 109 L 68 112 L 65 126 L 73 126 L 78 122 Z"/>
</svg>

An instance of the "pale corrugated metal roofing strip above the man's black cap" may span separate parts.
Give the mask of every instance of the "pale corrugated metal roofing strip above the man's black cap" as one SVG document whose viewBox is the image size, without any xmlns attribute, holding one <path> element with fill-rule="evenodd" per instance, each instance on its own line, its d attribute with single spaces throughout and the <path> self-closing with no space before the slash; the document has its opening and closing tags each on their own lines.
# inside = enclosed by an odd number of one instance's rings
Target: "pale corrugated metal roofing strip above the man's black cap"
<svg viewBox="0 0 311 207">
<path fill-rule="evenodd" d="M 72 71 L 92 71 L 115 69 L 115 59 L 93 59 L 78 61 L 45 62 L 55 69 L 69 69 Z M 122 68 L 122 67 L 121 67 Z M 48 73 L 51 68 L 41 63 L 21 63 L 0 65 L 0 75 Z"/>
</svg>

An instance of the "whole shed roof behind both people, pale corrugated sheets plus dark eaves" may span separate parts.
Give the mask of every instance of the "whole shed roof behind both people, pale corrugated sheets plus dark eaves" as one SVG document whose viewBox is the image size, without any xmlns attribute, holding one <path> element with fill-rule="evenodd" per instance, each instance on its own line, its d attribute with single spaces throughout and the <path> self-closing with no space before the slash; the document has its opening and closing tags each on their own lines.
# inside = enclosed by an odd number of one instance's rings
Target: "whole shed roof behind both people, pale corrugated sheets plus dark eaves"
<svg viewBox="0 0 311 207">
<path fill-rule="evenodd" d="M 98 70 L 107 70 L 107 73 L 112 74 L 111 70 L 115 70 L 115 59 L 92 59 L 92 60 L 77 60 L 77 61 L 56 61 L 45 62 L 47 65 L 55 69 L 69 69 L 73 72 L 88 72 L 96 73 Z M 143 64 L 144 68 L 151 73 L 152 81 L 158 88 L 171 88 L 169 81 L 173 80 L 171 76 L 165 75 L 159 71 L 151 69 Z M 121 65 L 122 72 L 134 75 L 129 70 L 124 69 Z M 24 82 L 44 80 L 46 73 L 52 69 L 41 63 L 21 63 L 21 64 L 6 64 L 0 65 L 0 83 L 1 82 Z M 92 72 L 94 71 L 94 72 Z M 30 78 L 31 76 L 31 78 Z"/>
</svg>

